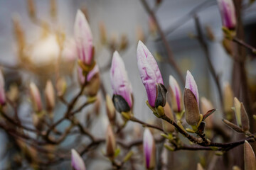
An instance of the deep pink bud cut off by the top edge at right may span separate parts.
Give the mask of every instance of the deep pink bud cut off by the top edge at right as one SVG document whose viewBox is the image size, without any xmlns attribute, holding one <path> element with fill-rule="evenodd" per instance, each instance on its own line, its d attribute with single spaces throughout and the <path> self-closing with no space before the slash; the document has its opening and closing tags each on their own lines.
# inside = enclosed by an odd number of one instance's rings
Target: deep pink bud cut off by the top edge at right
<svg viewBox="0 0 256 170">
<path fill-rule="evenodd" d="M 236 16 L 233 0 L 218 0 L 220 15 L 223 21 L 223 26 L 228 29 L 235 29 Z"/>
</svg>

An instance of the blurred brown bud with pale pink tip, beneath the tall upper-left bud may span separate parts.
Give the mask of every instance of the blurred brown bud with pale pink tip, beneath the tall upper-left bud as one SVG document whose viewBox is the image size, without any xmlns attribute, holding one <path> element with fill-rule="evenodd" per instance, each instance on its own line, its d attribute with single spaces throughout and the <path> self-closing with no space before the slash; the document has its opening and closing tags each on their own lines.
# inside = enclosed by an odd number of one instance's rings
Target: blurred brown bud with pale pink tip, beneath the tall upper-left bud
<svg viewBox="0 0 256 170">
<path fill-rule="evenodd" d="M 97 91 L 100 89 L 100 72 L 99 67 L 96 64 L 95 67 L 87 74 L 85 86 L 86 96 L 96 96 Z"/>
</svg>

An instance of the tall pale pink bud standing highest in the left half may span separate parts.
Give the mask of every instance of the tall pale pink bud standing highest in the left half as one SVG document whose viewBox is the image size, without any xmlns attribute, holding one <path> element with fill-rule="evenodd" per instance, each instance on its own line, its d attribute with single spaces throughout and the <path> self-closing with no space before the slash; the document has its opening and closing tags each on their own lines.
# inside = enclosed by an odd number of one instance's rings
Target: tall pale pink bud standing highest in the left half
<svg viewBox="0 0 256 170">
<path fill-rule="evenodd" d="M 80 10 L 78 10 L 75 16 L 74 35 L 79 60 L 81 60 L 83 64 L 92 64 L 92 32 L 85 15 Z"/>
</svg>

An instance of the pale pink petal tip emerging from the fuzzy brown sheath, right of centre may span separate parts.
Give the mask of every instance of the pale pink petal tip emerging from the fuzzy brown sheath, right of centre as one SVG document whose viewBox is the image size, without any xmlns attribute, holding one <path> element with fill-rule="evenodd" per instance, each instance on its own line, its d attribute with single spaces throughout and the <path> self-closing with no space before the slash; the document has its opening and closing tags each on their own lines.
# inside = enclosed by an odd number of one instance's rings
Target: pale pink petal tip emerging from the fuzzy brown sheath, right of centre
<svg viewBox="0 0 256 170">
<path fill-rule="evenodd" d="M 195 95 L 196 97 L 196 101 L 198 103 L 199 106 L 199 94 L 198 94 L 198 87 L 196 85 L 196 81 L 193 78 L 191 72 L 187 71 L 186 74 L 186 85 L 185 85 L 185 89 L 189 89 L 192 91 L 193 95 Z"/>
</svg>

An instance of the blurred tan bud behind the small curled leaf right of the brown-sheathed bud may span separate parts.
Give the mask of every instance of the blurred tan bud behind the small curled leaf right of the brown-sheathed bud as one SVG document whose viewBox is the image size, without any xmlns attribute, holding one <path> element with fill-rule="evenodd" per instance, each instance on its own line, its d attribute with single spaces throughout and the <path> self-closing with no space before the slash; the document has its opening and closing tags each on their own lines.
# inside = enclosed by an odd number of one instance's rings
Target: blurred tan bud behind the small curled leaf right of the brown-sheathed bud
<svg viewBox="0 0 256 170">
<path fill-rule="evenodd" d="M 208 101 L 207 98 L 202 97 L 201 98 L 201 113 L 206 114 L 208 111 L 213 109 L 213 104 Z M 205 120 L 206 122 L 206 129 L 212 129 L 213 128 L 213 115 L 210 115 L 208 118 Z"/>
</svg>

